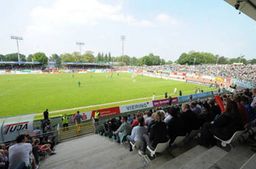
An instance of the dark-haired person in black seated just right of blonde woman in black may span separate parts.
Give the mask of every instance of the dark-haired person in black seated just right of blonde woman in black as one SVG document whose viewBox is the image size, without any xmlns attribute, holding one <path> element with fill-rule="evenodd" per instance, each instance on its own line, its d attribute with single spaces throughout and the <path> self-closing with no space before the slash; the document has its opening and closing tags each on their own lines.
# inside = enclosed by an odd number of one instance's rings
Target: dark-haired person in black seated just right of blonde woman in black
<svg viewBox="0 0 256 169">
<path fill-rule="evenodd" d="M 167 133 L 170 138 L 170 143 L 173 143 L 177 136 L 186 136 L 185 125 L 178 116 L 179 111 L 176 107 L 171 107 L 171 120 L 167 123 Z"/>
</svg>

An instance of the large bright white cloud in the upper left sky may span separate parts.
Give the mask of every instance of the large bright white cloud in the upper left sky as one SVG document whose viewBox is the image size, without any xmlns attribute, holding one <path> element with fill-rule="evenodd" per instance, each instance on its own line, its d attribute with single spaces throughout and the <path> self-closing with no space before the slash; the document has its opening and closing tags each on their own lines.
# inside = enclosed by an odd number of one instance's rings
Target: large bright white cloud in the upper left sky
<svg viewBox="0 0 256 169">
<path fill-rule="evenodd" d="M 51 7 L 38 6 L 30 13 L 32 24 L 28 30 L 50 31 L 55 27 L 98 24 L 101 20 L 130 25 L 151 25 L 148 20 L 137 20 L 122 12 L 122 5 L 107 5 L 98 0 L 57 0 Z"/>
</svg>

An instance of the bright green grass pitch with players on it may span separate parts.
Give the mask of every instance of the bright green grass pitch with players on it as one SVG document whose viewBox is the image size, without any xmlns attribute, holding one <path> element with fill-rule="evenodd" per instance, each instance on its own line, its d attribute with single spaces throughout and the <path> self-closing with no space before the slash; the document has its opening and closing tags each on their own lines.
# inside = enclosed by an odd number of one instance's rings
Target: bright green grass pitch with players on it
<svg viewBox="0 0 256 169">
<path fill-rule="evenodd" d="M 91 78 L 92 75 L 92 78 Z M 49 111 L 58 111 L 74 107 L 113 103 L 130 100 L 127 103 L 116 103 L 108 106 L 84 108 L 81 111 L 95 110 L 96 108 L 113 107 L 151 100 L 133 100 L 137 98 L 173 93 L 174 88 L 182 90 L 183 95 L 194 93 L 197 86 L 204 91 L 211 90 L 207 86 L 183 83 L 174 80 L 137 76 L 133 82 L 129 73 L 113 74 L 106 79 L 105 73 L 87 74 L 41 74 L 41 75 L 2 75 L 0 76 L 0 117 L 19 114 L 42 113 L 46 108 Z M 81 86 L 78 87 L 78 81 Z M 175 95 L 172 94 L 172 97 Z M 162 97 L 157 97 L 161 99 Z M 67 114 L 75 111 L 68 111 Z M 62 112 L 51 114 L 58 115 Z M 37 116 L 37 118 L 41 118 Z"/>
</svg>

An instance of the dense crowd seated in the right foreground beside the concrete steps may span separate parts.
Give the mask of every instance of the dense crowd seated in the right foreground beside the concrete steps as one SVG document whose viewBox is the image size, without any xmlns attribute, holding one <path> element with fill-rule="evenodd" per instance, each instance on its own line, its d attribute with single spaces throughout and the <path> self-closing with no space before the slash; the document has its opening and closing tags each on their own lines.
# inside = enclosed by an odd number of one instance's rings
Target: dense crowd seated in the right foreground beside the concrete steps
<svg viewBox="0 0 256 169">
<path fill-rule="evenodd" d="M 128 141 L 130 151 L 133 150 L 131 143 L 140 140 L 138 153 L 141 156 L 146 154 L 147 146 L 154 150 L 158 143 L 166 143 L 169 139 L 173 143 L 177 136 L 189 136 L 192 130 L 201 131 L 197 139 L 201 146 L 215 146 L 214 136 L 228 140 L 256 119 L 256 88 L 223 95 L 221 100 L 223 110 L 215 98 L 209 98 L 108 119 L 100 134 L 118 143 Z M 252 139 L 256 147 L 256 138 Z"/>
</svg>

